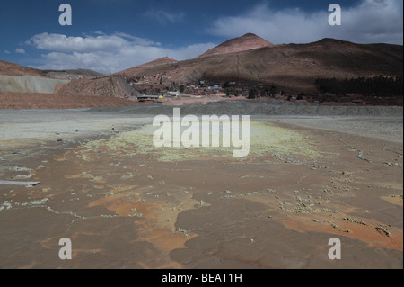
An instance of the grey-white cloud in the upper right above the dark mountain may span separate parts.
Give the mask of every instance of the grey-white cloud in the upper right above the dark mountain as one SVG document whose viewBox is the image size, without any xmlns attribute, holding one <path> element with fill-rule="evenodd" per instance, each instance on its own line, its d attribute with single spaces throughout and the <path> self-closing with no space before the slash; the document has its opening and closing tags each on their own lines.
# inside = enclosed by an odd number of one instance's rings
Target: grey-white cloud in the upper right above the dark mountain
<svg viewBox="0 0 404 287">
<path fill-rule="evenodd" d="M 342 8 L 342 25 L 329 26 L 328 4 L 314 13 L 285 9 L 275 11 L 259 4 L 250 11 L 215 20 L 207 32 L 233 38 L 253 32 L 274 44 L 307 43 L 322 38 L 350 40 L 357 43 L 403 43 L 401 0 L 363 0 L 353 8 Z"/>
</svg>

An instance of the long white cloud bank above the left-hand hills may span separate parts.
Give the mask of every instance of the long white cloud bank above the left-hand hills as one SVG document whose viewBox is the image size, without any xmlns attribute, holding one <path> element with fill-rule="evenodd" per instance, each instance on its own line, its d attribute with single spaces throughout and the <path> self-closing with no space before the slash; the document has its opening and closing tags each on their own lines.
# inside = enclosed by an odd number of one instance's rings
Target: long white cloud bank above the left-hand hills
<svg viewBox="0 0 404 287">
<path fill-rule="evenodd" d="M 100 31 L 99 34 L 102 32 Z M 158 42 L 135 37 L 123 32 L 102 36 L 66 37 L 62 34 L 42 33 L 28 41 L 37 49 L 48 52 L 42 54 L 43 69 L 89 68 L 101 73 L 118 72 L 129 67 L 170 57 L 177 60 L 195 58 L 213 43 L 202 43 L 180 47 L 164 48 Z"/>
</svg>

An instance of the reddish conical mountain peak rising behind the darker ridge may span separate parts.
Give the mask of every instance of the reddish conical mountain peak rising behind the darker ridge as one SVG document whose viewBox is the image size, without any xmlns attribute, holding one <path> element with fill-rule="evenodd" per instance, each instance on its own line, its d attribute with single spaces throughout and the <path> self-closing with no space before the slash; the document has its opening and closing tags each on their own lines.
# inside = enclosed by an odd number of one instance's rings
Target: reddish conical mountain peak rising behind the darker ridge
<svg viewBox="0 0 404 287">
<path fill-rule="evenodd" d="M 275 45 L 268 42 L 268 40 L 264 40 L 255 34 L 247 33 L 242 37 L 227 40 L 223 44 L 220 44 L 219 46 L 216 46 L 213 49 L 207 50 L 205 53 L 198 56 L 198 58 L 204 58 L 212 55 L 242 52 L 244 50 L 259 49 L 263 47 L 272 47 L 272 46 Z"/>
</svg>

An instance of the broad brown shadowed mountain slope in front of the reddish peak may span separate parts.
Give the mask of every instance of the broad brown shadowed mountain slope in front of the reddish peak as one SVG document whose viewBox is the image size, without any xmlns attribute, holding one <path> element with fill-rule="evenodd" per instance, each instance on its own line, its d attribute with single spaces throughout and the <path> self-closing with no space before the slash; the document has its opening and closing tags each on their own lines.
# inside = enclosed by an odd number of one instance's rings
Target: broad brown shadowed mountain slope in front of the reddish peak
<svg viewBox="0 0 404 287">
<path fill-rule="evenodd" d="M 240 39 L 230 40 L 230 43 L 234 41 L 240 42 Z M 246 85 L 276 85 L 290 93 L 316 92 L 314 81 L 317 78 L 402 76 L 403 47 L 399 45 L 323 39 L 308 44 L 267 45 L 239 52 L 225 52 L 225 47 L 229 47 L 229 41 L 219 54 L 214 49 L 210 56 L 205 53 L 177 63 L 135 67 L 127 76 L 143 76 L 149 78 L 150 83 L 158 76 L 161 84 L 154 85 L 157 88 L 172 83 L 198 83 L 200 80 L 234 81 Z"/>
</svg>

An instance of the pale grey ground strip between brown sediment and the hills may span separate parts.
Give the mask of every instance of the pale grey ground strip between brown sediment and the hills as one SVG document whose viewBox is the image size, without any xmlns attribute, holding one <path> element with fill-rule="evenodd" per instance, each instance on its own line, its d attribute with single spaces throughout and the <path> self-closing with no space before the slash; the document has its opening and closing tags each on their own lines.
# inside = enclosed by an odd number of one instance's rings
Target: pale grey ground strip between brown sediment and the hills
<svg viewBox="0 0 404 287">
<path fill-rule="evenodd" d="M 184 106 L 181 116 L 250 115 L 251 120 L 283 122 L 309 129 L 337 130 L 402 143 L 403 107 L 330 107 L 276 101 L 229 101 Z M 171 106 L 141 105 L 76 110 L 0 110 L 0 150 L 5 142 L 31 145 L 48 140 L 74 141 L 108 136 L 151 123 L 157 114 L 172 116 Z"/>
</svg>

